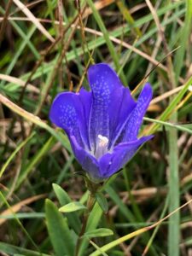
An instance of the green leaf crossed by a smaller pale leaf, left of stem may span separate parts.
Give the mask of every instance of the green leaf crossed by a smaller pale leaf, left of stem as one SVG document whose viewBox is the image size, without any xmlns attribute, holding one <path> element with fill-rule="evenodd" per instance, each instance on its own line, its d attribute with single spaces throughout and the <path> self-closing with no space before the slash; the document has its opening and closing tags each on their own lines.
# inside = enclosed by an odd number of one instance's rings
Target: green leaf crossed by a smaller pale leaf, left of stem
<svg viewBox="0 0 192 256">
<path fill-rule="evenodd" d="M 72 202 L 67 192 L 64 189 L 62 189 L 59 185 L 53 183 L 53 189 L 61 206 L 67 205 L 68 203 Z M 73 228 L 76 234 L 79 234 L 81 223 L 77 212 L 66 213 L 66 216 L 68 219 L 69 226 Z"/>
</svg>

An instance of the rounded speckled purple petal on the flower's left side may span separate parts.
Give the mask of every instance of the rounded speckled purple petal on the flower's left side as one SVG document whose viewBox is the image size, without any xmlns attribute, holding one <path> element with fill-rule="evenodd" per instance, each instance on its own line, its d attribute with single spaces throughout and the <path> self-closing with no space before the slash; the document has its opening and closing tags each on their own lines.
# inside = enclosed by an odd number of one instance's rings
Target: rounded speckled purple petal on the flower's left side
<svg viewBox="0 0 192 256">
<path fill-rule="evenodd" d="M 50 108 L 49 119 L 57 126 L 73 134 L 83 148 L 90 149 L 88 137 L 88 117 L 90 115 L 91 94 L 62 92 L 55 97 Z"/>
</svg>

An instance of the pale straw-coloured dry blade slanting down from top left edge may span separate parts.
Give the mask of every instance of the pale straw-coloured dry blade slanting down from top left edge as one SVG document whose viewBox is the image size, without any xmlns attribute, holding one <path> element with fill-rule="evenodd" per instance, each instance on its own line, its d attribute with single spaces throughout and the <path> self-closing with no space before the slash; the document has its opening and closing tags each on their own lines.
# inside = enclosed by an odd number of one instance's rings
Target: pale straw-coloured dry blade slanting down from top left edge
<svg viewBox="0 0 192 256">
<path fill-rule="evenodd" d="M 39 22 L 39 20 L 32 14 L 32 12 L 26 8 L 26 6 L 20 2 L 20 0 L 13 0 L 14 3 L 20 8 L 20 10 L 28 17 L 30 20 L 32 20 L 32 23 L 38 27 L 38 30 L 44 34 L 46 38 L 49 39 L 50 42 L 54 42 L 55 39 L 47 32 L 47 30 L 44 28 L 44 26 Z"/>
</svg>

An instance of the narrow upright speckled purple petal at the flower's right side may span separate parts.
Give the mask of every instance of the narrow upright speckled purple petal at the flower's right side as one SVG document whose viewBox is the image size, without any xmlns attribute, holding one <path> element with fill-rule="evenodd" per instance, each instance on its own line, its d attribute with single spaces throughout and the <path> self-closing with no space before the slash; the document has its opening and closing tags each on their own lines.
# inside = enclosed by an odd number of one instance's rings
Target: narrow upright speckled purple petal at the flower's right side
<svg viewBox="0 0 192 256">
<path fill-rule="evenodd" d="M 143 116 L 147 111 L 148 105 L 153 96 L 153 90 L 149 83 L 144 85 L 142 92 L 140 93 L 137 106 L 132 111 L 122 134 L 120 135 L 121 143 L 130 142 L 137 139 L 137 134 L 140 129 L 140 126 L 143 122 Z"/>
</svg>

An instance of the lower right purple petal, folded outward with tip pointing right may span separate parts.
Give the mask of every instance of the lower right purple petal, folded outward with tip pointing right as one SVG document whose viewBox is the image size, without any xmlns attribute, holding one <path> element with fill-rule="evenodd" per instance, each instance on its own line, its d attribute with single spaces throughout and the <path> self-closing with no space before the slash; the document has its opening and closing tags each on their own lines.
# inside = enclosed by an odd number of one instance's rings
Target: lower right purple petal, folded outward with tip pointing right
<svg viewBox="0 0 192 256">
<path fill-rule="evenodd" d="M 130 143 L 120 143 L 113 148 L 112 153 L 104 154 L 99 160 L 100 173 L 102 178 L 112 176 L 115 172 L 118 172 L 126 162 L 131 160 L 137 149 L 153 136 L 141 137 L 136 141 Z"/>
</svg>

